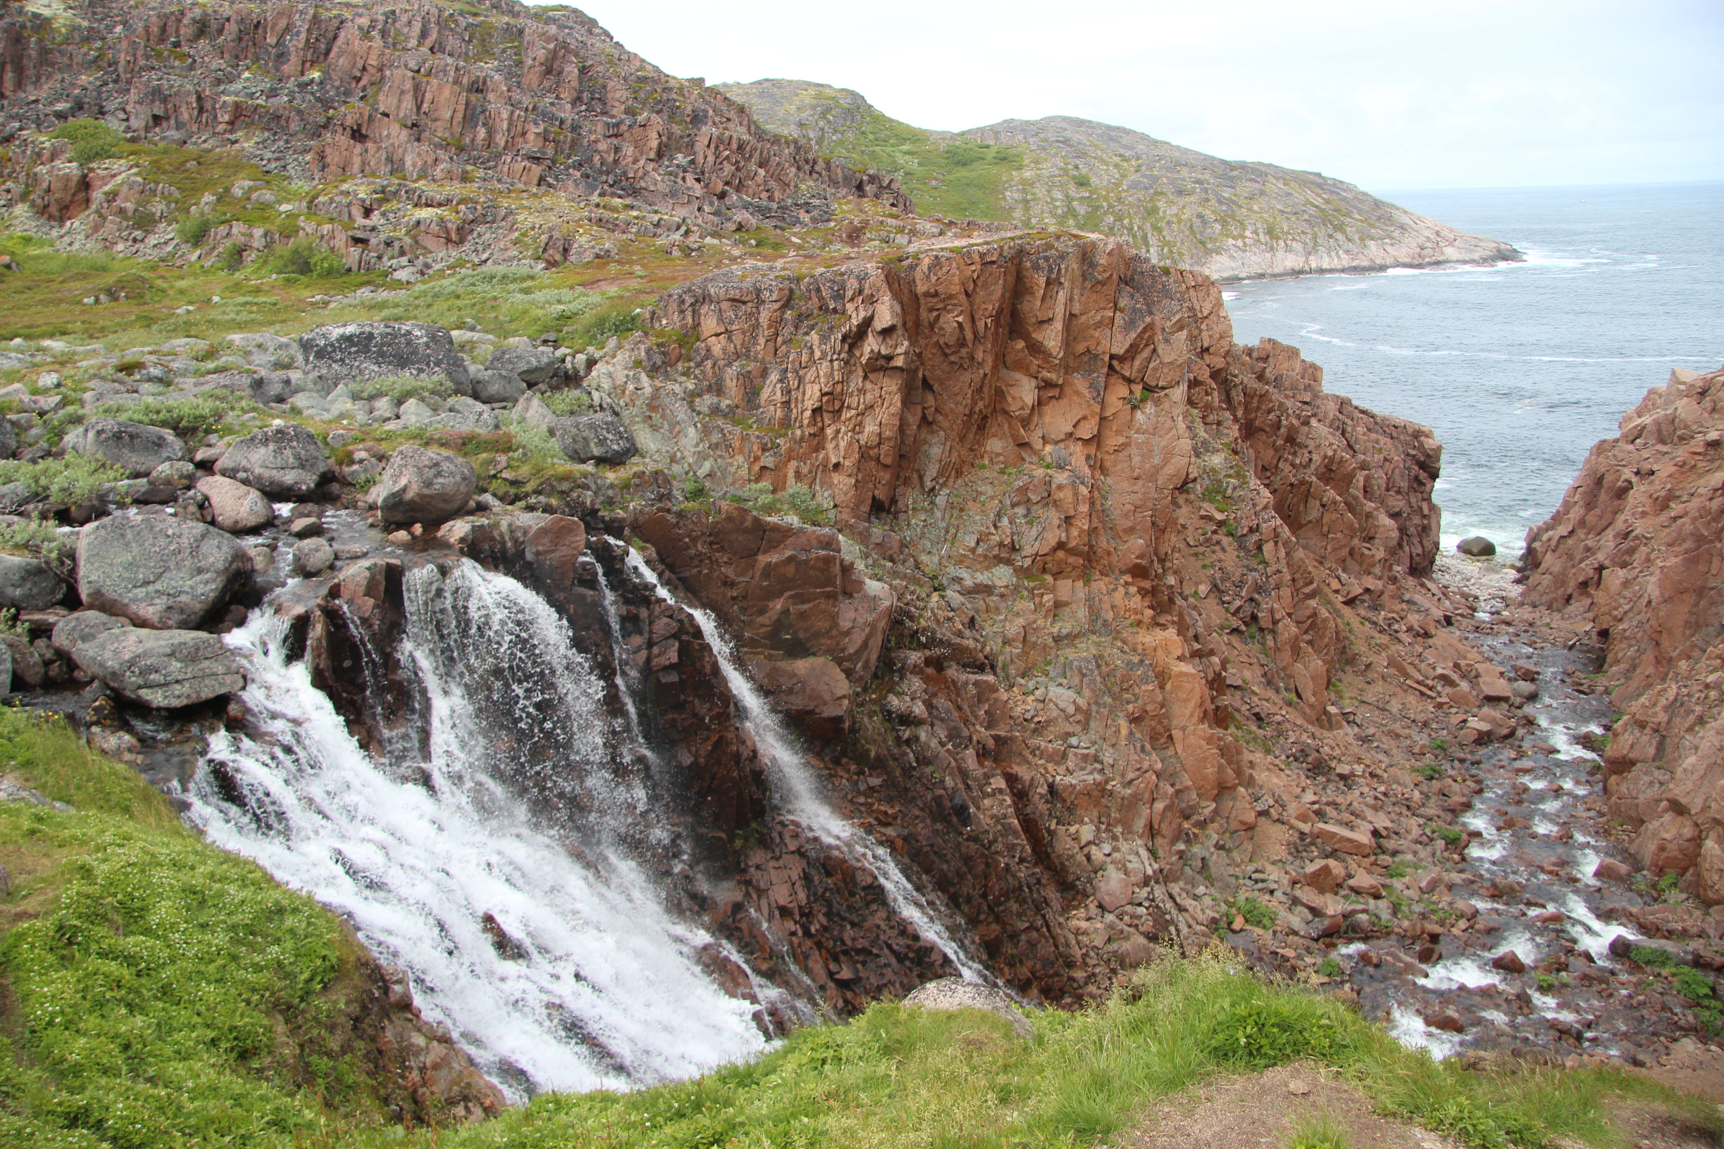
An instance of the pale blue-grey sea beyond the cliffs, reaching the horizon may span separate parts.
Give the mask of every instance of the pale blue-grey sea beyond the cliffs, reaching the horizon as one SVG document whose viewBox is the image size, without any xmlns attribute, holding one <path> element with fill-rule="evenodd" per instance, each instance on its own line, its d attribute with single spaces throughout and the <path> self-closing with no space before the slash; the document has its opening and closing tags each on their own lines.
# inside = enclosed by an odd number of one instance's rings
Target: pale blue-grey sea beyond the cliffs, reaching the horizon
<svg viewBox="0 0 1724 1149">
<path fill-rule="evenodd" d="M 1390 191 L 1526 264 L 1229 284 L 1234 339 L 1443 441 L 1446 550 L 1521 553 L 1598 439 L 1672 367 L 1724 363 L 1724 184 Z"/>
</svg>

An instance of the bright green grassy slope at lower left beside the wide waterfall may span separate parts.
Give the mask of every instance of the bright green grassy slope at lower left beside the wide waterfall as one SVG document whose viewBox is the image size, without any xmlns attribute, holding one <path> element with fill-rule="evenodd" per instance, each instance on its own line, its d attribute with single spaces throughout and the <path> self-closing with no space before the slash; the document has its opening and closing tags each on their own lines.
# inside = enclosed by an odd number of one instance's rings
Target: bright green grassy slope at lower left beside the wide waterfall
<svg viewBox="0 0 1724 1149">
<path fill-rule="evenodd" d="M 0 1144 L 293 1146 L 384 1120 L 360 951 L 57 718 L 0 711 Z"/>
</svg>

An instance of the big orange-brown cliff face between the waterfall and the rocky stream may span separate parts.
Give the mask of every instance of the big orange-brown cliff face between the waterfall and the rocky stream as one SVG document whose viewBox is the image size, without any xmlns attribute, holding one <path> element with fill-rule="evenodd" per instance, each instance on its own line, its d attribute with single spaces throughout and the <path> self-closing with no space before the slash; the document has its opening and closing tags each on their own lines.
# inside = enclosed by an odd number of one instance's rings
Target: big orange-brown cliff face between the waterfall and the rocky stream
<svg viewBox="0 0 1724 1149">
<path fill-rule="evenodd" d="M 1440 448 L 1324 394 L 1293 348 L 1233 345 L 1212 281 L 1107 239 L 912 245 L 709 276 L 648 319 L 586 386 L 648 469 L 824 506 L 857 593 L 895 599 L 878 668 L 817 672 L 848 639 L 784 636 L 810 615 L 724 543 L 740 524 L 634 532 L 743 636 L 846 817 L 1014 985 L 1067 999 L 1150 939 L 1202 944 L 1252 865 L 1443 853 L 1409 817 L 1427 798 L 1329 693 L 1343 674 L 1393 693 L 1390 643 L 1483 663 L 1424 579 Z M 1359 801 L 1314 813 L 1307 768 Z"/>
</svg>

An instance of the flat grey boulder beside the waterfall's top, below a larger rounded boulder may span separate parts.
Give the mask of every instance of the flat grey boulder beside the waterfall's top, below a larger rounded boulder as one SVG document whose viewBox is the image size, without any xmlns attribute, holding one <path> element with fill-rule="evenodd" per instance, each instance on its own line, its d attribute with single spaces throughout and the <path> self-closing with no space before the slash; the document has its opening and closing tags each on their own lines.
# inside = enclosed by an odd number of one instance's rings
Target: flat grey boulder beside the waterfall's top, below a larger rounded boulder
<svg viewBox="0 0 1724 1149">
<path fill-rule="evenodd" d="M 164 710 L 245 689 L 240 660 L 203 630 L 109 630 L 79 643 L 72 660 L 116 694 Z"/>
</svg>

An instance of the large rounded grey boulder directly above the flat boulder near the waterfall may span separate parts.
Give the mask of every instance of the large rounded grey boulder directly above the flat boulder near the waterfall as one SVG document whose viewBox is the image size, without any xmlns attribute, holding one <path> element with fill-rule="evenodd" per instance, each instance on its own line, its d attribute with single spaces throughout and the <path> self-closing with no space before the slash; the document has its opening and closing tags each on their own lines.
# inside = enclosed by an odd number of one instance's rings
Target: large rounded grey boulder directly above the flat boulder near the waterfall
<svg viewBox="0 0 1724 1149">
<path fill-rule="evenodd" d="M 110 515 L 78 539 L 84 606 L 153 630 L 202 625 L 250 577 L 233 536 L 172 515 Z"/>
</svg>

